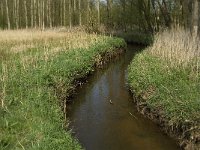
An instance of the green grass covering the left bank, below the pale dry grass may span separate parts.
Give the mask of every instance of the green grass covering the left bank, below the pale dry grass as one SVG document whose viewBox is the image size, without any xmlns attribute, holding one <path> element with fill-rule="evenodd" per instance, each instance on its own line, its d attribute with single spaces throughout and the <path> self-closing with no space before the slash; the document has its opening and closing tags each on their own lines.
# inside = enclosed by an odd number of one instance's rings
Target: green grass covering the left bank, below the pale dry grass
<svg viewBox="0 0 200 150">
<path fill-rule="evenodd" d="M 66 131 L 59 101 L 70 94 L 75 79 L 94 70 L 98 55 L 124 46 L 122 39 L 104 37 L 88 48 L 60 51 L 48 59 L 40 59 L 46 47 L 30 49 L 23 58 L 38 57 L 30 64 L 22 62 L 21 54 L 2 61 L 0 149 L 81 149 Z"/>
</svg>

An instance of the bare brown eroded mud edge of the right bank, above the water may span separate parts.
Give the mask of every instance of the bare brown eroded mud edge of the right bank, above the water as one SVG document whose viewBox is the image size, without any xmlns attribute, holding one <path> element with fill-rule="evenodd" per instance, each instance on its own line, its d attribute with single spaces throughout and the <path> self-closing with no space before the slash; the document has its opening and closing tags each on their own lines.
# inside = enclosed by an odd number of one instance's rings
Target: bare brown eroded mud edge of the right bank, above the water
<svg viewBox="0 0 200 150">
<path fill-rule="evenodd" d="M 141 96 L 136 97 L 131 91 L 137 110 L 150 120 L 153 120 L 169 136 L 174 138 L 182 149 L 199 150 L 200 128 L 198 124 L 188 122 L 187 124 L 170 124 L 170 120 L 163 116 L 162 110 L 152 109 L 147 106 Z M 192 132 L 191 132 L 192 131 Z"/>
</svg>

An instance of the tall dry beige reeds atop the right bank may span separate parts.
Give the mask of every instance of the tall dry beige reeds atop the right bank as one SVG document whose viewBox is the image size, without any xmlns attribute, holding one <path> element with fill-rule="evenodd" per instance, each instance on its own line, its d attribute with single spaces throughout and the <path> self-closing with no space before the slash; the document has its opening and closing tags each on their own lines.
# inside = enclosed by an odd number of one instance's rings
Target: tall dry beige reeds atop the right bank
<svg viewBox="0 0 200 150">
<path fill-rule="evenodd" d="M 200 39 L 184 29 L 171 29 L 158 33 L 150 47 L 150 53 L 169 62 L 172 67 L 190 67 L 198 72 Z"/>
</svg>

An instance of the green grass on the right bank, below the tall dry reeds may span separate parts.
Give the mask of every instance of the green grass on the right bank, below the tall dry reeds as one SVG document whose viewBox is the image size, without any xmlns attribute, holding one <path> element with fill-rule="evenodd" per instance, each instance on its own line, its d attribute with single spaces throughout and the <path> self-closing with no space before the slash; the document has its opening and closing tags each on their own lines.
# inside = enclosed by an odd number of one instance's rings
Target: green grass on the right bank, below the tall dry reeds
<svg viewBox="0 0 200 150">
<path fill-rule="evenodd" d="M 136 97 L 140 97 L 140 104 L 157 112 L 167 123 L 165 126 L 181 134 L 181 140 L 198 144 L 200 75 L 188 67 L 169 67 L 164 59 L 146 50 L 130 64 L 128 82 Z"/>
</svg>

